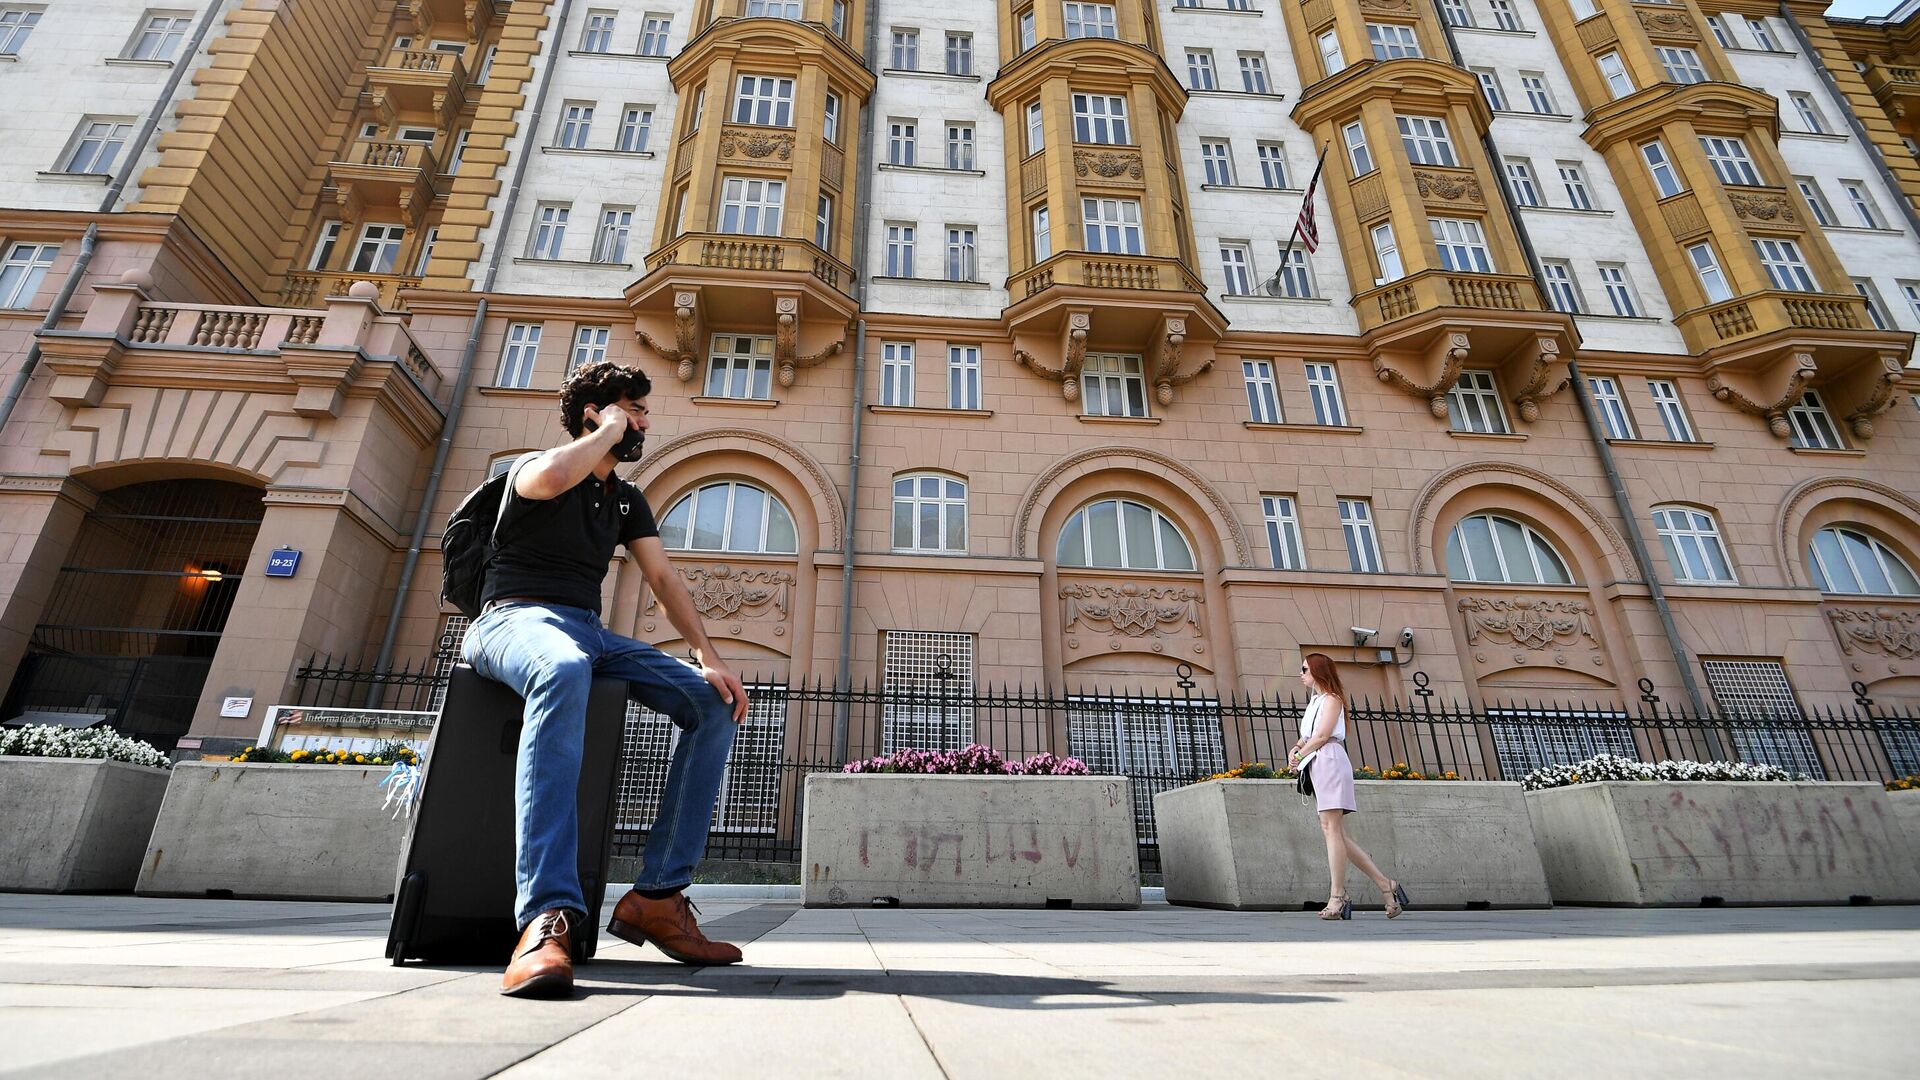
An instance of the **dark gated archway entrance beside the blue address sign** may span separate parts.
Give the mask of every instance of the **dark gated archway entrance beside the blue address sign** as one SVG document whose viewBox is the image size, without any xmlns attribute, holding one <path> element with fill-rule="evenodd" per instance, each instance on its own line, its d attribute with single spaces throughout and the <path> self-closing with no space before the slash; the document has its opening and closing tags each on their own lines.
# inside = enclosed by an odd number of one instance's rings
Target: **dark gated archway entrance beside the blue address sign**
<svg viewBox="0 0 1920 1080">
<path fill-rule="evenodd" d="M 33 628 L 0 717 L 111 726 L 163 749 L 186 734 L 265 505 L 223 480 L 100 496 Z"/>
</svg>

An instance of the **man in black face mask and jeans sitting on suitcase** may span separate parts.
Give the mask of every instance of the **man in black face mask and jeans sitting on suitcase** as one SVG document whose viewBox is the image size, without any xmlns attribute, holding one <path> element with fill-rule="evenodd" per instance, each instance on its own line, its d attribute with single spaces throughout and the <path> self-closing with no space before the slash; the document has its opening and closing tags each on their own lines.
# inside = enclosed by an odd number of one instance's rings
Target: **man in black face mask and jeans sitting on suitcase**
<svg viewBox="0 0 1920 1080">
<path fill-rule="evenodd" d="M 609 930 L 636 945 L 653 942 L 680 963 L 741 959 L 737 947 L 701 934 L 684 890 L 707 849 L 747 690 L 707 638 L 645 496 L 614 475 L 620 461 L 639 459 L 651 388 L 639 369 L 616 363 L 589 363 L 566 379 L 561 417 L 574 438 L 515 463 L 482 592 L 486 609 L 467 628 L 467 663 L 526 698 L 515 776 L 520 944 L 503 994 L 572 994 L 572 928 L 593 917 L 576 869 L 574 799 L 595 675 L 624 678 L 636 701 L 682 730 L 639 880 L 620 897 Z M 601 582 L 622 544 L 699 667 L 601 625 Z"/>
</svg>

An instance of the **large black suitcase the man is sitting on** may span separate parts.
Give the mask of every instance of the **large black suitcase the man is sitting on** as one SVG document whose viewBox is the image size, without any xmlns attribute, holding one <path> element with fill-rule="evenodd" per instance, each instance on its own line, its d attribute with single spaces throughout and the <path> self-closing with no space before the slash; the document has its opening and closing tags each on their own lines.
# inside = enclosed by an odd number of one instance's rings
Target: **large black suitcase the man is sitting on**
<svg viewBox="0 0 1920 1080">
<path fill-rule="evenodd" d="M 522 709 L 505 684 L 465 663 L 453 667 L 394 888 L 386 936 L 394 965 L 503 965 L 513 955 L 520 938 L 513 919 L 513 771 Z M 599 944 L 624 734 L 626 682 L 595 678 L 580 757 L 580 886 L 589 911 L 574 932 L 576 963 L 591 959 Z"/>
</svg>

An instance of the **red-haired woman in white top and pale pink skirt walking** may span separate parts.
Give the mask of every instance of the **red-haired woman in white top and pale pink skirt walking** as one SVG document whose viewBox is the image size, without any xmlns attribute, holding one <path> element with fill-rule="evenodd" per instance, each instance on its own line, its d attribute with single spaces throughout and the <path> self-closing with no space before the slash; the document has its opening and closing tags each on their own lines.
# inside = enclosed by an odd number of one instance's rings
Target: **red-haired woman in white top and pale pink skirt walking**
<svg viewBox="0 0 1920 1080">
<path fill-rule="evenodd" d="M 1327 872 L 1332 878 L 1321 919 L 1352 919 L 1354 901 L 1346 897 L 1346 865 L 1373 878 L 1386 901 L 1386 917 L 1398 919 L 1407 907 L 1407 890 L 1373 865 L 1373 859 L 1346 836 L 1346 815 L 1359 809 L 1354 801 L 1354 763 L 1346 757 L 1346 692 L 1340 673 L 1327 653 L 1300 657 L 1300 682 L 1313 696 L 1300 717 L 1300 742 L 1286 755 L 1288 763 L 1306 774 L 1311 769 L 1313 796 L 1319 799 L 1321 834 L 1327 836 Z"/>
</svg>

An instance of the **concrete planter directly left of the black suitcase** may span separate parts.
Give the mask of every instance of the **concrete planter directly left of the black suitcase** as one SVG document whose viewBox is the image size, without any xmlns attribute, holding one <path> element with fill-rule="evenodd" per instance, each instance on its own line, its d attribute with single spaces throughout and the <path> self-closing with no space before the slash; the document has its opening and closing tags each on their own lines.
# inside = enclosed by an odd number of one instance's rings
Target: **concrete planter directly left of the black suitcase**
<svg viewBox="0 0 1920 1080">
<path fill-rule="evenodd" d="M 388 769 L 182 761 L 140 863 L 140 896 L 392 899 L 407 819 Z"/>
</svg>

